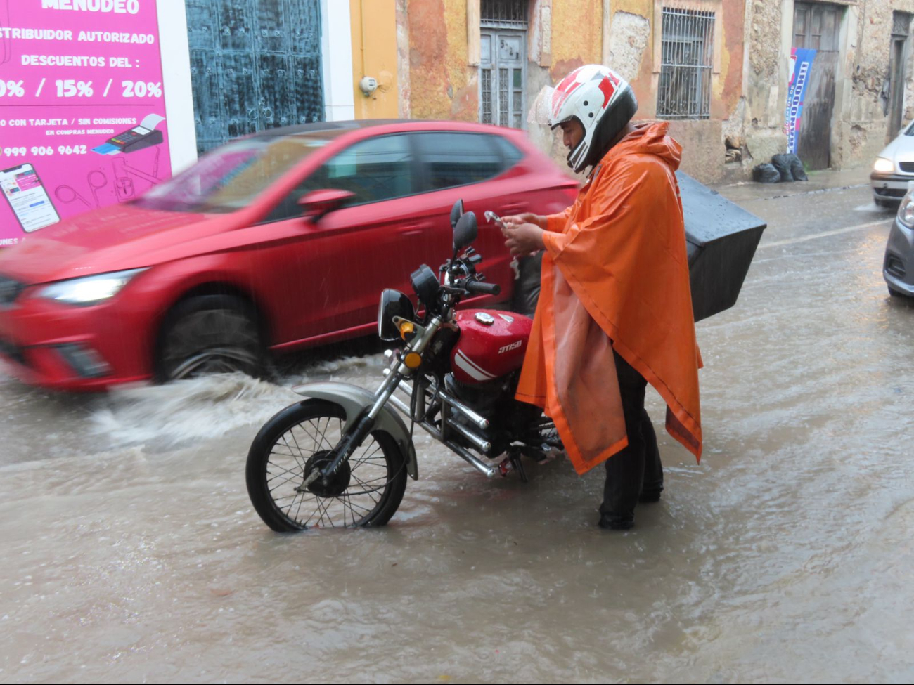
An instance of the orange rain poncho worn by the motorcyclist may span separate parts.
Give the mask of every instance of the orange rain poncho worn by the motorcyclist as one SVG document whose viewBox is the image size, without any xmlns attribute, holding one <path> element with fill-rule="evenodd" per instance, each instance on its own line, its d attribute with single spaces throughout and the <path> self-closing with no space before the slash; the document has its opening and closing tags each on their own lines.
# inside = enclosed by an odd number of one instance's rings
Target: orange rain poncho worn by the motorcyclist
<svg viewBox="0 0 914 685">
<path fill-rule="evenodd" d="M 548 217 L 542 289 L 516 398 L 555 422 L 584 473 L 628 445 L 612 350 L 666 402 L 666 429 L 701 457 L 685 228 L 669 124 L 614 145 L 565 212 Z"/>
</svg>

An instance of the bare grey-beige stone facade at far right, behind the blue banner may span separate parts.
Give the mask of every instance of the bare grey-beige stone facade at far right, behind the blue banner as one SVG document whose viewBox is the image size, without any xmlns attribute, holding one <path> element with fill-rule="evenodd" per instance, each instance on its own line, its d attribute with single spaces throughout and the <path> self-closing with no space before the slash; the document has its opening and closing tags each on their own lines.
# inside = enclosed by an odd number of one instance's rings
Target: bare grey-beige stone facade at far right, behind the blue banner
<svg viewBox="0 0 914 685">
<path fill-rule="evenodd" d="M 794 132 L 797 153 L 813 168 L 872 163 L 914 118 L 912 16 L 912 0 L 749 3 L 748 89 L 739 123 L 752 157 L 788 146 L 785 106 L 799 71 L 792 56 L 805 49 L 814 55 Z"/>
</svg>

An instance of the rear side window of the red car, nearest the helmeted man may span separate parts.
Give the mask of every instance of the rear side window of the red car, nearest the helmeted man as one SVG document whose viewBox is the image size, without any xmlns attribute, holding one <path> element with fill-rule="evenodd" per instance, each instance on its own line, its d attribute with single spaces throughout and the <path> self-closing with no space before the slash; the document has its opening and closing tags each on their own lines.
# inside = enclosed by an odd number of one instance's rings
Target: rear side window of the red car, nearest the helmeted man
<svg viewBox="0 0 914 685">
<path fill-rule="evenodd" d="M 426 190 L 478 183 L 510 166 L 501 136 L 488 133 L 416 133 Z M 510 144 L 510 143 L 509 143 Z"/>
</svg>

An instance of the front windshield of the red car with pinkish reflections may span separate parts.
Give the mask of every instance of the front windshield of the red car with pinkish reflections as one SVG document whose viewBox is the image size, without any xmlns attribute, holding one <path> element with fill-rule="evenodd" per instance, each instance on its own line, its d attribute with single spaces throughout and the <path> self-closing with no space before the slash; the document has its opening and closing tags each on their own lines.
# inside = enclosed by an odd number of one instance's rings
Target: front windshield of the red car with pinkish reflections
<svg viewBox="0 0 914 685">
<path fill-rule="evenodd" d="M 256 136 L 228 142 L 155 185 L 136 205 L 167 212 L 234 212 L 340 133 Z"/>
</svg>

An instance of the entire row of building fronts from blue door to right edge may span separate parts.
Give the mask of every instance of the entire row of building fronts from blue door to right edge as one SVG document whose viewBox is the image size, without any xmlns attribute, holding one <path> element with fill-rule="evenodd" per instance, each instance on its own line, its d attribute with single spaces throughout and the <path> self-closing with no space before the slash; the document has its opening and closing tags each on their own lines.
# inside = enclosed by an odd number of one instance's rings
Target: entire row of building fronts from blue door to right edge
<svg viewBox="0 0 914 685">
<path fill-rule="evenodd" d="M 914 0 L 158 3 L 175 167 L 248 132 L 397 117 L 523 128 L 561 163 L 528 112 L 590 62 L 670 121 L 707 183 L 788 149 L 868 164 L 914 118 Z"/>
</svg>

